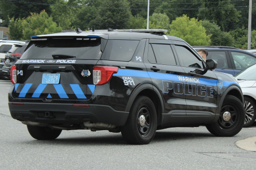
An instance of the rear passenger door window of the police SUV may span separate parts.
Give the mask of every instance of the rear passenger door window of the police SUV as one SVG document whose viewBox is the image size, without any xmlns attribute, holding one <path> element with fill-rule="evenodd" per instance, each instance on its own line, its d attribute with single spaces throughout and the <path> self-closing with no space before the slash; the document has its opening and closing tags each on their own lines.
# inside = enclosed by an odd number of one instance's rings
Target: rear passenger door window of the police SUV
<svg viewBox="0 0 256 170">
<path fill-rule="evenodd" d="M 157 64 L 176 65 L 176 60 L 169 44 L 150 44 L 148 47 L 148 61 Z"/>
</svg>

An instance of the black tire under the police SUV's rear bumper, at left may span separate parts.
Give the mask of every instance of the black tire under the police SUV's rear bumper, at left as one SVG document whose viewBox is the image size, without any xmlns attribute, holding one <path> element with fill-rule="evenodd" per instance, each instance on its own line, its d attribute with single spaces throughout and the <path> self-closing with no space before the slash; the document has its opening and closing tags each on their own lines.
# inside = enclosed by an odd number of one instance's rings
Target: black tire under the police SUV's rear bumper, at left
<svg viewBox="0 0 256 170">
<path fill-rule="evenodd" d="M 49 127 L 30 126 L 27 125 L 30 135 L 37 140 L 53 140 L 56 139 L 62 130 L 51 129 Z"/>
</svg>

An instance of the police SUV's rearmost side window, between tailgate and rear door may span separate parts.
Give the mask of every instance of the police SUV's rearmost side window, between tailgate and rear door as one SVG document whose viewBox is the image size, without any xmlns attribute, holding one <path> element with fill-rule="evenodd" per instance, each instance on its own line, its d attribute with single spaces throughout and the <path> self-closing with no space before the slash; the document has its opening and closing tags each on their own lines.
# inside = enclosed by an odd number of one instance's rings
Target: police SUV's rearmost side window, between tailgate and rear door
<svg viewBox="0 0 256 170">
<path fill-rule="evenodd" d="M 138 44 L 138 40 L 114 40 L 110 60 L 130 61 Z"/>
</svg>

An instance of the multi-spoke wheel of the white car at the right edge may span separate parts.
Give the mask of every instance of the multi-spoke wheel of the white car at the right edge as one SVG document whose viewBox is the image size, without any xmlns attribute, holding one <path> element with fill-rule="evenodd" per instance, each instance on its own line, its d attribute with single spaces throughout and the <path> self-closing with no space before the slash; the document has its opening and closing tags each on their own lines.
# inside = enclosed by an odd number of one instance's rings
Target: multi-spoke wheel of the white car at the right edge
<svg viewBox="0 0 256 170">
<path fill-rule="evenodd" d="M 248 128 L 254 123 L 255 118 L 256 118 L 255 102 L 248 97 L 244 97 L 244 109 L 245 109 L 244 128 Z"/>
</svg>

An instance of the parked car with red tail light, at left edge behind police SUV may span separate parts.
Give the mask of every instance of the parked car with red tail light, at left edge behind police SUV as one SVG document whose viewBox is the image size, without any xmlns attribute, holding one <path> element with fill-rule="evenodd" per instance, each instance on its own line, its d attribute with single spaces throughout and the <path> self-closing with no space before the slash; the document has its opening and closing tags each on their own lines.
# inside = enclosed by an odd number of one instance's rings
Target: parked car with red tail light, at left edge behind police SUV
<svg viewBox="0 0 256 170">
<path fill-rule="evenodd" d="M 4 66 L 2 67 L 2 70 L 0 70 L 0 78 L 4 80 L 10 80 L 11 66 L 22 57 L 28 43 L 13 45 L 14 46 L 6 53 Z"/>
</svg>

